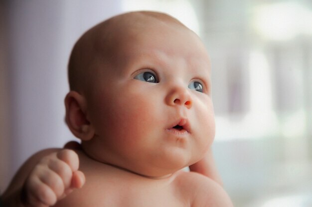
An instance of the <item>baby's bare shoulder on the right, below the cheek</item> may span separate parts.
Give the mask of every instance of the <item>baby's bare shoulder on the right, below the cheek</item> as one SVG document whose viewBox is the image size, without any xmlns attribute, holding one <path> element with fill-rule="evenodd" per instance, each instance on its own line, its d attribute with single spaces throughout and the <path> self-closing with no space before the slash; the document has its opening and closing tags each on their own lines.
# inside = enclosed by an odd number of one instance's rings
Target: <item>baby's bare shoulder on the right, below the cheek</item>
<svg viewBox="0 0 312 207">
<path fill-rule="evenodd" d="M 191 207 L 233 207 L 225 190 L 212 179 L 195 172 L 180 172 L 176 184 Z"/>
</svg>

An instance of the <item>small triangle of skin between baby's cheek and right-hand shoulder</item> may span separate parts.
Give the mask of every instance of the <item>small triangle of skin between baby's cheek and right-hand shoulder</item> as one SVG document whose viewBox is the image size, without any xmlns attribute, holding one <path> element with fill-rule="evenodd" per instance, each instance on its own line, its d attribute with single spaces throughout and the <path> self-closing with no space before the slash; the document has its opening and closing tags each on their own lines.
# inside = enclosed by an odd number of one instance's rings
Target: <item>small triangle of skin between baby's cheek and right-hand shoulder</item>
<svg viewBox="0 0 312 207">
<path fill-rule="evenodd" d="M 205 154 L 205 157 L 195 164 L 189 166 L 190 171 L 200 173 L 205 175 L 221 186 L 223 186 L 223 182 L 221 176 L 218 173 L 217 167 L 215 165 L 213 154 L 211 148 Z"/>
</svg>

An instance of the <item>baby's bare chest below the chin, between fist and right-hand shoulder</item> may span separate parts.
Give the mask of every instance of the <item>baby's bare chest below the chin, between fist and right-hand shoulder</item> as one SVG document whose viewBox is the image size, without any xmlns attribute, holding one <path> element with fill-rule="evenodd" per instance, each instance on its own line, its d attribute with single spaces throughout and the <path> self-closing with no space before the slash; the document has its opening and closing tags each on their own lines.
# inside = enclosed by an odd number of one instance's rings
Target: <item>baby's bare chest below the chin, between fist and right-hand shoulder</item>
<svg viewBox="0 0 312 207">
<path fill-rule="evenodd" d="M 88 207 L 190 207 L 188 199 L 170 185 L 111 180 L 93 186 Z"/>
</svg>

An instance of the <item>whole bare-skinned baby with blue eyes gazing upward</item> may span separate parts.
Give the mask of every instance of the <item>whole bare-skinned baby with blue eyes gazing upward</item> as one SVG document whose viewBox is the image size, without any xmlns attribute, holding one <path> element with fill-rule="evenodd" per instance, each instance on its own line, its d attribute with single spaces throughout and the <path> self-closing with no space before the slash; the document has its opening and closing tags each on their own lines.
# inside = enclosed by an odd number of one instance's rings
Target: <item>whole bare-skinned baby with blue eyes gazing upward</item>
<svg viewBox="0 0 312 207">
<path fill-rule="evenodd" d="M 66 123 L 81 149 L 33 155 L 8 206 L 233 206 L 211 160 L 210 61 L 194 32 L 157 12 L 112 17 L 78 40 L 68 75 Z"/>
</svg>

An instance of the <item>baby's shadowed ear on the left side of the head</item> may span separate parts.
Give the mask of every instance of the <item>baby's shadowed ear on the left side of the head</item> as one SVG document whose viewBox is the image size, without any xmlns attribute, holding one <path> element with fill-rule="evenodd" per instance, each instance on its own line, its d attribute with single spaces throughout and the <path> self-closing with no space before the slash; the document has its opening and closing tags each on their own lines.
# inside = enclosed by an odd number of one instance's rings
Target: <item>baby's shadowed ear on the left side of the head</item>
<svg viewBox="0 0 312 207">
<path fill-rule="evenodd" d="M 65 97 L 65 121 L 70 131 L 81 140 L 90 140 L 94 136 L 94 128 L 87 117 L 85 98 L 76 91 L 70 91 Z"/>
</svg>

